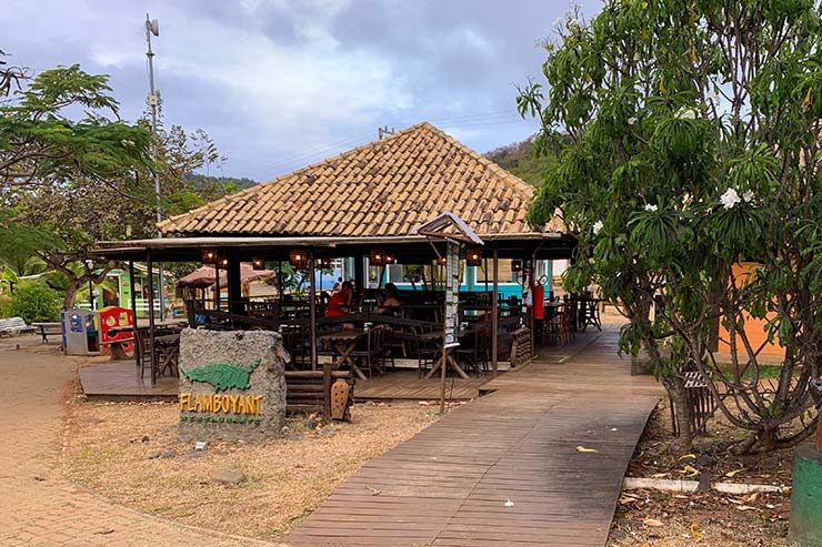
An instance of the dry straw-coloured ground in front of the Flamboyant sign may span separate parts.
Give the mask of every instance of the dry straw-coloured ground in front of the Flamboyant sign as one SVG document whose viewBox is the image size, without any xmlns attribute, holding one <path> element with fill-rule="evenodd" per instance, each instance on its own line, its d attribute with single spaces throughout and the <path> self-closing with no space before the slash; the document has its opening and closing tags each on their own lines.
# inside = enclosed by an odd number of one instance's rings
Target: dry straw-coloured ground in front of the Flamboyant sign
<svg viewBox="0 0 822 547">
<path fill-rule="evenodd" d="M 66 478 L 127 506 L 277 539 L 363 463 L 431 424 L 437 411 L 412 403 L 355 405 L 348 424 L 307 428 L 304 417 L 294 417 L 282 439 L 213 443 L 196 452 L 177 437 L 173 403 L 76 403 L 61 464 Z M 234 466 L 248 480 L 212 482 L 215 470 Z"/>
</svg>

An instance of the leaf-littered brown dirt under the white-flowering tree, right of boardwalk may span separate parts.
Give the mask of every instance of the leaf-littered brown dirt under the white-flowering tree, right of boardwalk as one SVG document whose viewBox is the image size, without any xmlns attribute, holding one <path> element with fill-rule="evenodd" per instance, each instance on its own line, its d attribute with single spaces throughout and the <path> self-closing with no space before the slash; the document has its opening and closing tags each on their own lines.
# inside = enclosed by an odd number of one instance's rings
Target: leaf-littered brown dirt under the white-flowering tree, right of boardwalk
<svg viewBox="0 0 822 547">
<path fill-rule="evenodd" d="M 671 415 L 668 401 L 654 411 L 629 466 L 628 477 L 712 483 L 791 485 L 792 450 L 741 457 L 728 452 L 738 433 L 719 414 L 708 434 L 696 437 L 691 454 L 668 450 Z M 611 525 L 609 547 L 628 546 L 786 546 L 790 492 L 733 496 L 715 490 L 676 494 L 623 490 Z"/>
</svg>

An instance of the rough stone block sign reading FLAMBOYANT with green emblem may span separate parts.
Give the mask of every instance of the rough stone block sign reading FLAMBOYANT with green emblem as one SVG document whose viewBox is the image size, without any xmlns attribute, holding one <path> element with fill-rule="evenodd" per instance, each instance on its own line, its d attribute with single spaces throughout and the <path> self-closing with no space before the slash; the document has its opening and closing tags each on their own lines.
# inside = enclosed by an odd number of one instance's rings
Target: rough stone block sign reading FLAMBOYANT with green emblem
<svg viewBox="0 0 822 547">
<path fill-rule="evenodd" d="M 180 336 L 180 436 L 280 436 L 285 423 L 285 353 L 268 331 L 202 331 Z"/>
</svg>

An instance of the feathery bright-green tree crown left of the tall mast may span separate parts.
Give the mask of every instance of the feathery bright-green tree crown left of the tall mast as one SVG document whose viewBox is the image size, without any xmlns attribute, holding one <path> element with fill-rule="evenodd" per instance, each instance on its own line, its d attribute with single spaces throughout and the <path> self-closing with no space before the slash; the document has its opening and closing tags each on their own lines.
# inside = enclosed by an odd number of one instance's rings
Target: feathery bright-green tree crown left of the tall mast
<svg viewBox="0 0 822 547">
<path fill-rule="evenodd" d="M 24 79 L 18 69 L 0 72 L 0 93 L 19 88 L 0 103 L 0 191 L 76 178 L 116 188 L 150 164 L 151 135 L 119 120 L 108 77 L 74 64 L 43 71 L 23 89 Z M 77 109 L 83 115 L 72 120 Z"/>
</svg>

